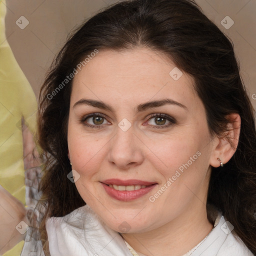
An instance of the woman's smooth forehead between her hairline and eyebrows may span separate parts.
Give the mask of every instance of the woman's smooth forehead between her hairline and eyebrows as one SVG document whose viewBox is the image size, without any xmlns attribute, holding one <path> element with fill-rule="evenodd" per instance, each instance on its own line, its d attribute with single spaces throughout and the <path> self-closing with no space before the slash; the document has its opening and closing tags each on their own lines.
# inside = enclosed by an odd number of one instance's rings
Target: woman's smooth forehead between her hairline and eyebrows
<svg viewBox="0 0 256 256">
<path fill-rule="evenodd" d="M 162 52 L 148 48 L 99 50 L 73 79 L 71 104 L 81 97 L 112 104 L 141 103 L 163 97 L 181 103 L 199 100 L 193 78 Z"/>
</svg>

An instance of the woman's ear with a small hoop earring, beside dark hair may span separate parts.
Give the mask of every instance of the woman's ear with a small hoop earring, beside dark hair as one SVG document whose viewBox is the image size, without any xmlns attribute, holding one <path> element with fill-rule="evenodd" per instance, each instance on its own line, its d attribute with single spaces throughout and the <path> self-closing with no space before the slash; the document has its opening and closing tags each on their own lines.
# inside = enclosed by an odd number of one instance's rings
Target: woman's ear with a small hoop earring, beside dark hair
<svg viewBox="0 0 256 256">
<path fill-rule="evenodd" d="M 210 165 L 219 167 L 220 161 L 224 164 L 233 156 L 239 141 L 241 118 L 238 113 L 226 116 L 228 119 L 226 131 L 223 136 L 214 139 L 214 147 L 210 157 Z"/>
</svg>

